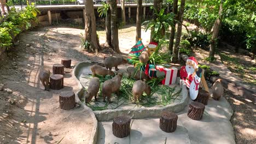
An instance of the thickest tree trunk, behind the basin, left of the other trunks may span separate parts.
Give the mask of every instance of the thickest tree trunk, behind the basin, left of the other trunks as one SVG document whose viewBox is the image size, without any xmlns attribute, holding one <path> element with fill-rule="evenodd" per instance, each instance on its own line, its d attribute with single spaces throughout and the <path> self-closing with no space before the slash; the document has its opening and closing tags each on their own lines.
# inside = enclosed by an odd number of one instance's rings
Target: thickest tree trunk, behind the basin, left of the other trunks
<svg viewBox="0 0 256 144">
<path fill-rule="evenodd" d="M 85 34 L 84 40 L 90 43 L 89 51 L 97 52 L 100 49 L 100 44 L 97 39 L 96 20 L 94 14 L 94 4 L 92 0 L 85 1 Z"/>
</svg>

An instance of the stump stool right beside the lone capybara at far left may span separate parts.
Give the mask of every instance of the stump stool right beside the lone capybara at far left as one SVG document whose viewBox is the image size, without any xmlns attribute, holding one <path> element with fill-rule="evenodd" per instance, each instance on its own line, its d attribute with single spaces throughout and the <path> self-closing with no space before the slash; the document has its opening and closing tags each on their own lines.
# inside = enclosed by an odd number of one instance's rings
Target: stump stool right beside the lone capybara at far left
<svg viewBox="0 0 256 144">
<path fill-rule="evenodd" d="M 51 75 L 50 76 L 50 86 L 51 89 L 59 90 L 63 88 L 64 84 L 64 76 L 63 75 Z"/>
</svg>

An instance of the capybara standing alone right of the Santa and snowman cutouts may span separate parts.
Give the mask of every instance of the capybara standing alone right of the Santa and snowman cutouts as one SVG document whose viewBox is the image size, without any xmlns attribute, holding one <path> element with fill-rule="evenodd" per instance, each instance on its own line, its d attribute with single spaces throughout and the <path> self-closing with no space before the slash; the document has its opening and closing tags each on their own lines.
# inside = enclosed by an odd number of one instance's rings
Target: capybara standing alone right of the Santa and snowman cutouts
<svg viewBox="0 0 256 144">
<path fill-rule="evenodd" d="M 216 82 L 213 83 L 212 86 L 212 98 L 215 100 L 219 100 L 220 97 L 222 97 L 224 92 L 223 86 L 222 86 L 222 79 L 218 79 Z"/>
</svg>

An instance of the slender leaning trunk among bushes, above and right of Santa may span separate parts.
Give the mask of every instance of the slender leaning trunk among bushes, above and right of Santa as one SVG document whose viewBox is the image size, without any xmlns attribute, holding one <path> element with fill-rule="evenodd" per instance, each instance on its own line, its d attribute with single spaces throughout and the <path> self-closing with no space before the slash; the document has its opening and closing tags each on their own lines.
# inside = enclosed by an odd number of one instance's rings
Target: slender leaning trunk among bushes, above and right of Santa
<svg viewBox="0 0 256 144">
<path fill-rule="evenodd" d="M 215 47 L 217 46 L 217 38 L 219 35 L 219 28 L 222 25 L 222 10 L 223 10 L 222 3 L 220 3 L 219 16 L 213 25 L 213 33 L 212 33 L 211 44 L 210 44 L 209 58 L 214 58 Z"/>
</svg>

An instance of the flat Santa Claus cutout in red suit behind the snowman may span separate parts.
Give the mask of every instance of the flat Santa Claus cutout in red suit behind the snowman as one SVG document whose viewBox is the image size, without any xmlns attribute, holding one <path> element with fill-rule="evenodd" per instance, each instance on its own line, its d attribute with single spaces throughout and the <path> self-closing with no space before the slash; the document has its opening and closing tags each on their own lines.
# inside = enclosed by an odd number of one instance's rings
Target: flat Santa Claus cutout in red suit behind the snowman
<svg viewBox="0 0 256 144">
<path fill-rule="evenodd" d="M 194 75 L 198 69 L 198 63 L 195 57 L 189 57 L 186 65 L 180 70 L 181 80 L 183 80 L 187 87 L 190 87 L 190 83 L 193 81 Z"/>
</svg>

